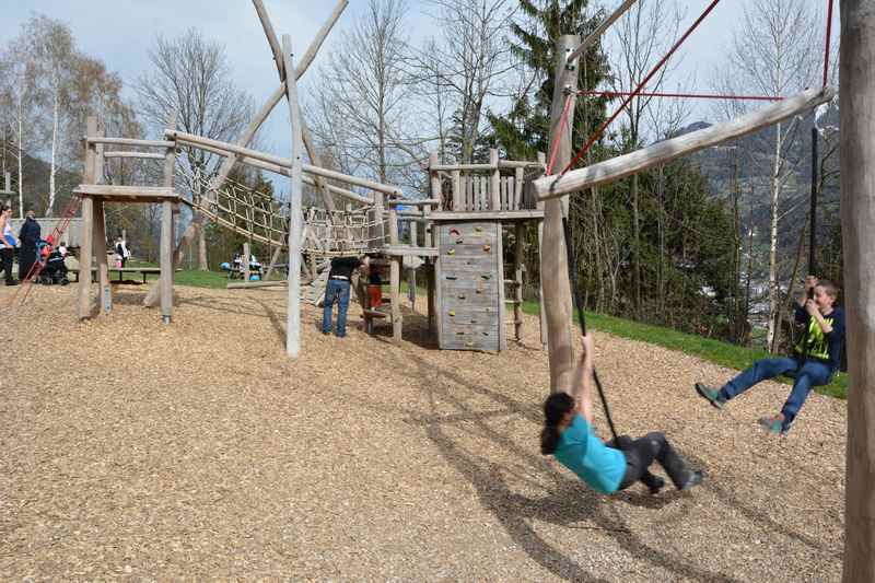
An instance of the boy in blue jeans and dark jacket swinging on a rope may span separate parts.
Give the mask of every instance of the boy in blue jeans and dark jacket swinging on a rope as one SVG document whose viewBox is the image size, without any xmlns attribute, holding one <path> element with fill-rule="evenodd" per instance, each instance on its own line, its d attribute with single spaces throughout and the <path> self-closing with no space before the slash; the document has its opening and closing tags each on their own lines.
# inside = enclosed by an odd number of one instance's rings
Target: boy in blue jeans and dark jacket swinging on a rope
<svg viewBox="0 0 875 583">
<path fill-rule="evenodd" d="M 809 299 L 810 290 L 814 290 L 814 296 Z M 696 392 L 722 409 L 726 401 L 761 381 L 780 374 L 793 375 L 793 389 L 781 411 L 759 420 L 771 434 L 786 434 L 812 388 L 828 384 L 839 369 L 844 311 L 835 305 L 838 293 L 832 282 L 808 276 L 805 292 L 794 306 L 796 322 L 805 326 L 806 333 L 793 347 L 793 357 L 758 360 L 719 390 L 696 383 Z"/>
</svg>

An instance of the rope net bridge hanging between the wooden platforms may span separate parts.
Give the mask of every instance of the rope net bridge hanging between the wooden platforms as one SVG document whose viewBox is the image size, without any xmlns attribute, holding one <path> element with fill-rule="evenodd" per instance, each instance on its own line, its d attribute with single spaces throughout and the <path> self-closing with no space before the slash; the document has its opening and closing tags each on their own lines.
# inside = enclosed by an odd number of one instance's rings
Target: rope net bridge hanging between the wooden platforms
<svg viewBox="0 0 875 583">
<path fill-rule="evenodd" d="M 270 194 L 225 178 L 217 188 L 213 179 L 177 165 L 177 184 L 188 185 L 191 200 L 185 203 L 217 224 L 250 241 L 285 248 L 289 207 Z M 301 250 L 323 256 L 378 253 L 387 242 L 387 218 L 375 205 L 350 210 L 304 209 Z"/>
</svg>

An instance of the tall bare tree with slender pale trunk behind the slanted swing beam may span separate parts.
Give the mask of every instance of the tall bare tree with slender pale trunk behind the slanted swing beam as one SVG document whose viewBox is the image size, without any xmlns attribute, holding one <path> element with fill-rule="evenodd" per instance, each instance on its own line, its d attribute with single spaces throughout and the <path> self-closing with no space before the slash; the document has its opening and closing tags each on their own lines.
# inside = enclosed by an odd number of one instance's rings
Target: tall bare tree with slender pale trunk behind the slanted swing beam
<svg viewBox="0 0 875 583">
<path fill-rule="evenodd" d="M 813 50 L 820 39 L 821 15 L 807 0 L 752 0 L 745 8 L 736 31 L 728 68 L 715 80 L 726 93 L 759 92 L 765 95 L 796 93 L 817 81 L 820 51 Z M 743 102 L 722 104 L 725 115 L 737 116 L 748 107 Z M 780 310 L 778 226 L 782 215 L 781 195 L 794 176 L 798 161 L 788 159 L 788 145 L 797 138 L 800 119 L 777 124 L 769 137 L 769 322 L 767 347 L 775 347 L 777 316 Z M 768 135 L 768 132 L 767 132 Z"/>
</svg>

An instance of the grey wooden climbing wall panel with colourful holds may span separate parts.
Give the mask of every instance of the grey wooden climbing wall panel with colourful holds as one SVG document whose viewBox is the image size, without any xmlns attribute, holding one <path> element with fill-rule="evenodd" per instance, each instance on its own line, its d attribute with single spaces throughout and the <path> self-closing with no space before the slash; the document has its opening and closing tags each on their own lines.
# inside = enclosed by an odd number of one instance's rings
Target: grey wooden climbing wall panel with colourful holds
<svg viewBox="0 0 875 583">
<path fill-rule="evenodd" d="M 435 223 L 439 338 L 442 349 L 505 348 L 501 223 Z"/>
</svg>

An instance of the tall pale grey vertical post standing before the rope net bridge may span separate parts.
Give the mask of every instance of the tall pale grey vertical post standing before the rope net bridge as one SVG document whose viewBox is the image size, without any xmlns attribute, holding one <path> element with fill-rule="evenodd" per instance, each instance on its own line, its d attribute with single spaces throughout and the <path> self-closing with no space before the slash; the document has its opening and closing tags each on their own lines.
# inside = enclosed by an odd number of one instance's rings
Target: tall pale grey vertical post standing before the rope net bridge
<svg viewBox="0 0 875 583">
<path fill-rule="evenodd" d="M 292 37 L 282 35 L 282 57 L 285 70 L 294 71 Z M 302 174 L 304 138 L 301 131 L 301 108 L 298 103 L 298 82 L 294 75 L 285 79 L 289 118 L 292 121 L 292 182 L 289 193 L 291 210 L 289 217 L 289 315 L 285 324 L 285 352 L 292 358 L 301 353 L 301 230 L 302 224 Z"/>
</svg>

